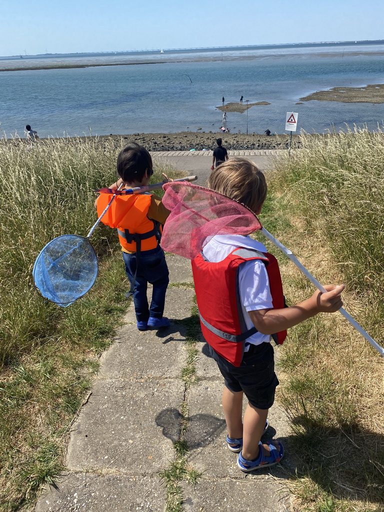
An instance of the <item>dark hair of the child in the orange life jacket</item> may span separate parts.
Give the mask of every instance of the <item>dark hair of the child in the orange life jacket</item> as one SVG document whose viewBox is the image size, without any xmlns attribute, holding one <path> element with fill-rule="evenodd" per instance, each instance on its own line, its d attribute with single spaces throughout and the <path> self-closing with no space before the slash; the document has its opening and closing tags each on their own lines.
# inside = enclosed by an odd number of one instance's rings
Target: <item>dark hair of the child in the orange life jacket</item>
<svg viewBox="0 0 384 512">
<path fill-rule="evenodd" d="M 120 151 L 116 165 L 117 172 L 124 183 L 141 181 L 145 170 L 147 170 L 148 176 L 153 174 L 151 155 L 145 147 L 136 142 L 130 142 Z"/>
</svg>

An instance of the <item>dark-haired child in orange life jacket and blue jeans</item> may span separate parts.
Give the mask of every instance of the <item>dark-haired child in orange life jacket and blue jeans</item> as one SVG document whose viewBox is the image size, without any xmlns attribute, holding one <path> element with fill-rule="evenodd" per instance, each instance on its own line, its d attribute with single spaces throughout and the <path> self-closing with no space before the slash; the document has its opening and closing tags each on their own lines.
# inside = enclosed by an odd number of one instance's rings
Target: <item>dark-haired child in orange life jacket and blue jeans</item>
<svg viewBox="0 0 384 512">
<path fill-rule="evenodd" d="M 131 142 L 117 157 L 117 172 L 120 178 L 109 188 L 148 185 L 153 174 L 151 155 L 145 147 Z M 112 197 L 113 194 L 100 194 L 97 198 L 95 206 L 99 216 Z M 161 199 L 153 194 L 121 195 L 115 197 L 101 219 L 104 224 L 117 228 L 125 272 L 131 283 L 131 290 L 126 296 L 133 294 L 139 331 L 170 325 L 168 318 L 163 316 L 169 272 L 164 251 L 159 245 L 161 225 L 169 213 Z M 148 283 L 153 285 L 150 306 L 146 294 Z"/>
</svg>

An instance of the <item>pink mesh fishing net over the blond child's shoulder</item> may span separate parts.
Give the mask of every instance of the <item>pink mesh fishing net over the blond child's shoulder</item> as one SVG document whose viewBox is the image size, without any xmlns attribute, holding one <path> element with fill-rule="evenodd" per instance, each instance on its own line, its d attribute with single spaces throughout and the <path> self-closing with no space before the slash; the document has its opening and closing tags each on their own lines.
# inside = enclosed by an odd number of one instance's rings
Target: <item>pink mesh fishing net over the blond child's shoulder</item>
<svg viewBox="0 0 384 512">
<path fill-rule="evenodd" d="M 161 247 L 193 260 L 217 234 L 250 234 L 262 228 L 254 213 L 214 190 L 186 181 L 163 185 L 162 203 L 170 215 Z"/>
</svg>

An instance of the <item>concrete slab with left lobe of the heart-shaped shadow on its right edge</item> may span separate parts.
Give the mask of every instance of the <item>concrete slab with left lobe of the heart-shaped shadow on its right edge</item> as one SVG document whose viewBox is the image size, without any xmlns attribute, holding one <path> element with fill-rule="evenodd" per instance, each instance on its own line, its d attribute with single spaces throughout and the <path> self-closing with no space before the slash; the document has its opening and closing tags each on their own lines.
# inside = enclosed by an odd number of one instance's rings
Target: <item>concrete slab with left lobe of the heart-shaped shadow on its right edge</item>
<svg viewBox="0 0 384 512">
<path fill-rule="evenodd" d="M 164 435 L 164 412 L 174 437 L 184 398 L 180 379 L 98 379 L 73 425 L 67 468 L 154 475 L 174 458 L 173 441 Z M 168 425 L 166 425 L 168 427 Z"/>
</svg>

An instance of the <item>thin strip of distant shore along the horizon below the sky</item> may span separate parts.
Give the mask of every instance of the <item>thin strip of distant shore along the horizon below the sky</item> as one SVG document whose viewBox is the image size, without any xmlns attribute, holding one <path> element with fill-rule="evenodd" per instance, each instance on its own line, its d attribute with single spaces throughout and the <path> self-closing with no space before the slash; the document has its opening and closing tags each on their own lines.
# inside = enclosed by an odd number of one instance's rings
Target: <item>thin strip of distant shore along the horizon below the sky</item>
<svg viewBox="0 0 384 512">
<path fill-rule="evenodd" d="M 209 51 L 209 50 L 232 50 L 232 49 L 240 49 L 240 48 L 259 48 L 259 49 L 270 49 L 270 48 L 294 48 L 297 46 L 301 47 L 313 47 L 313 46 L 336 46 L 336 45 L 369 45 L 375 44 L 380 45 L 384 44 L 384 39 L 362 39 L 362 40 L 340 40 L 340 41 L 306 41 L 306 42 L 286 42 L 286 43 L 274 43 L 274 44 L 266 44 L 266 45 L 232 45 L 232 46 L 206 46 L 206 47 L 188 47 L 188 48 L 152 48 L 152 49 L 134 49 L 134 50 L 100 50 L 100 51 L 92 51 L 92 52 L 66 52 L 66 53 L 36 53 L 36 54 L 28 54 L 24 55 L 21 53 L 17 53 L 14 55 L 2 55 L 0 58 L 12 58 L 12 57 L 40 57 L 47 55 L 98 55 L 98 54 L 140 54 L 140 53 L 152 53 L 152 52 L 160 52 L 169 53 L 169 52 L 188 52 L 188 51 Z"/>
</svg>

